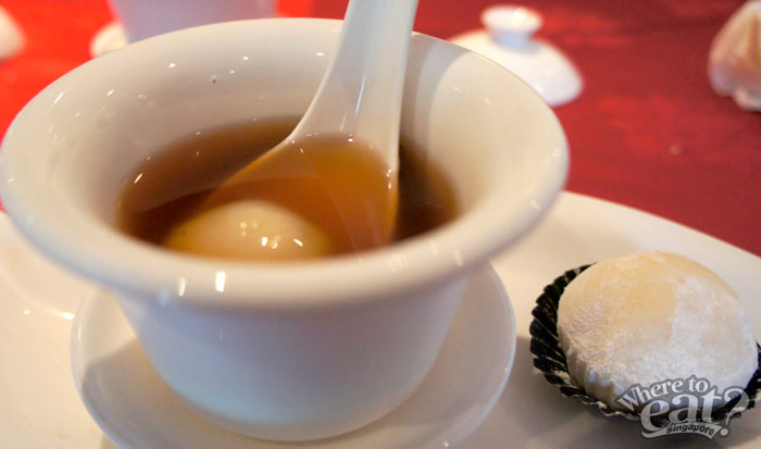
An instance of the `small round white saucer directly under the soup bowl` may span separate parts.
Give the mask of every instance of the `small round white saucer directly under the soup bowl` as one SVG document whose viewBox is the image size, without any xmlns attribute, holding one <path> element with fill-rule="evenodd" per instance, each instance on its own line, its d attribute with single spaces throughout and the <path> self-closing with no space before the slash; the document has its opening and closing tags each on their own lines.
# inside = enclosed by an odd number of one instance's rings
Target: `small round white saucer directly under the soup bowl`
<svg viewBox="0 0 761 449">
<path fill-rule="evenodd" d="M 490 265 L 470 280 L 441 353 L 420 389 L 384 419 L 304 445 L 261 441 L 207 423 L 183 408 L 153 371 L 113 297 L 95 292 L 73 324 L 71 358 L 90 414 L 117 445 L 140 448 L 441 448 L 486 417 L 515 354 L 515 320 Z"/>
</svg>

